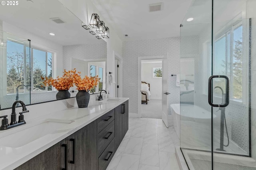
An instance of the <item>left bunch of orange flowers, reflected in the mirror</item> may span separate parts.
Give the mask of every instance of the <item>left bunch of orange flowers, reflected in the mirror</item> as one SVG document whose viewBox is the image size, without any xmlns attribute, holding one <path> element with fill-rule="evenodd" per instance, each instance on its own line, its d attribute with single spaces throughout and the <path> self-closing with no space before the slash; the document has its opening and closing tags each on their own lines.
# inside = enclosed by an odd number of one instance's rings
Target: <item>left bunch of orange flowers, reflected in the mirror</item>
<svg viewBox="0 0 256 170">
<path fill-rule="evenodd" d="M 45 86 L 54 86 L 57 90 L 69 90 L 73 87 L 73 75 L 76 73 L 76 69 L 66 71 L 64 70 L 62 77 L 42 77 L 43 84 Z"/>
</svg>

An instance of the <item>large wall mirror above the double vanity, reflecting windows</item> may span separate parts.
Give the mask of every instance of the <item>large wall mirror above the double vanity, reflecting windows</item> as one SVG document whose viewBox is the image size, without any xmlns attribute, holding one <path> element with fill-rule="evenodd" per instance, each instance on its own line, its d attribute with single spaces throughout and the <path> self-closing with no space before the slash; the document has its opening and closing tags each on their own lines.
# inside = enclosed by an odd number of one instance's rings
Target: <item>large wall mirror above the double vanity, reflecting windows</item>
<svg viewBox="0 0 256 170">
<path fill-rule="evenodd" d="M 10 10 L 12 15 L 6 15 Z M 2 6 L 0 109 L 12 107 L 15 100 L 26 105 L 56 100 L 57 90 L 42 87 L 41 76 L 56 78 L 64 69 L 76 68 L 82 76 L 99 75 L 102 79 L 93 91 L 106 90 L 106 56 L 106 42 L 85 30 L 58 0 Z M 74 97 L 75 87 L 69 91 Z"/>
</svg>

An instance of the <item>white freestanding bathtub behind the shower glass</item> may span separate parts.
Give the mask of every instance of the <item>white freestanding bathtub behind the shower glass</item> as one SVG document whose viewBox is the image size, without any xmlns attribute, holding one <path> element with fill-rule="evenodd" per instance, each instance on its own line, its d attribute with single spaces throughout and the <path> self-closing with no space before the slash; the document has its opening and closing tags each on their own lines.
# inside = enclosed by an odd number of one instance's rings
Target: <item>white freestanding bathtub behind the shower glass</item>
<svg viewBox="0 0 256 170">
<path fill-rule="evenodd" d="M 185 132 L 191 132 L 192 130 L 196 130 L 198 128 L 201 130 L 204 128 L 204 131 L 206 133 L 210 132 L 207 130 L 208 128 L 211 127 L 209 125 L 209 123 L 211 123 L 212 118 L 210 111 L 207 111 L 206 109 L 191 104 L 171 104 L 170 106 L 174 129 L 179 138 L 181 121 L 186 121 L 186 124 L 184 123 L 186 126 L 182 126 Z M 180 106 L 182 109 L 181 111 Z M 213 115 L 213 118 L 215 117 L 216 115 Z M 193 135 L 193 137 L 198 137 L 198 135 L 202 135 L 197 130 L 194 133 L 195 134 Z"/>
</svg>

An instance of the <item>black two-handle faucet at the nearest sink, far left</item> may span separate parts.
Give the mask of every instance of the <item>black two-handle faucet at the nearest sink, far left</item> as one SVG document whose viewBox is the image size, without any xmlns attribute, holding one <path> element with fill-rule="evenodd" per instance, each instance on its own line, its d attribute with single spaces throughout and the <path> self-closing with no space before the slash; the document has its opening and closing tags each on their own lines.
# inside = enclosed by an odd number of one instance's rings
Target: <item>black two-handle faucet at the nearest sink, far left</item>
<svg viewBox="0 0 256 170">
<path fill-rule="evenodd" d="M 18 122 L 16 121 L 16 112 L 15 112 L 15 109 L 16 109 L 16 104 L 21 104 L 22 106 L 22 112 L 20 112 L 19 114 L 19 120 Z M 16 127 L 16 126 L 20 126 L 20 125 L 23 125 L 23 124 L 26 124 L 25 120 L 24 120 L 24 115 L 23 113 L 27 113 L 29 112 L 24 104 L 24 102 L 20 101 L 20 100 L 16 100 L 14 102 L 14 104 L 12 105 L 12 114 L 11 114 L 11 122 L 10 122 L 10 125 L 8 124 L 8 119 L 6 118 L 7 115 L 5 116 L 0 116 L 0 118 L 3 118 L 2 119 L 2 125 L 0 126 L 0 131 L 1 130 L 6 130 L 6 129 L 10 129 L 12 127 Z"/>
</svg>

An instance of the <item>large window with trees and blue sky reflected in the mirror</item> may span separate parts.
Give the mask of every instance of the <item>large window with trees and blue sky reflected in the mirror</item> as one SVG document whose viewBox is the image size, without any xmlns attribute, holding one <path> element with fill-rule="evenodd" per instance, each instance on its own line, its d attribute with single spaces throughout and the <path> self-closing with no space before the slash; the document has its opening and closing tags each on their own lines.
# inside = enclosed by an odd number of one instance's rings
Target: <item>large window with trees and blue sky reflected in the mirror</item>
<svg viewBox="0 0 256 170">
<path fill-rule="evenodd" d="M 52 76 L 53 53 L 29 48 L 24 44 L 9 40 L 7 42 L 7 94 L 16 93 L 19 85 L 30 85 L 30 75 L 32 75 L 31 82 L 33 83 L 31 91 L 52 91 L 52 87 L 41 87 L 43 85 L 41 76 Z M 25 86 L 20 86 L 19 89 L 29 92 L 30 89 Z"/>
</svg>

